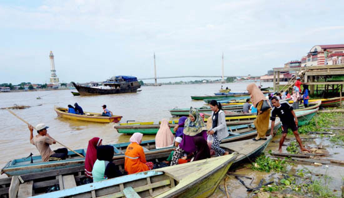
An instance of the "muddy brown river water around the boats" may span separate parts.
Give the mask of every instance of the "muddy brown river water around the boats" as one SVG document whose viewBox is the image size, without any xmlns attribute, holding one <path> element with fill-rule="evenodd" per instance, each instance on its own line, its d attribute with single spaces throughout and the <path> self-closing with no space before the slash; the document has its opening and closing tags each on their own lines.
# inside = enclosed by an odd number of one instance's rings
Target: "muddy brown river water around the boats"
<svg viewBox="0 0 344 198">
<path fill-rule="evenodd" d="M 84 111 L 102 112 L 101 106 L 106 104 L 116 115 L 122 115 L 121 122 L 127 120 L 154 121 L 170 118 L 169 109 L 174 107 L 201 107 L 203 101 L 193 101 L 192 95 L 212 95 L 221 85 L 228 86 L 233 92 L 243 92 L 250 82 L 230 84 L 196 84 L 196 85 L 163 85 L 160 87 L 141 87 L 142 91 L 133 94 L 115 94 L 103 96 L 73 96 L 71 91 L 27 91 L 0 93 L 0 108 L 11 107 L 13 104 L 27 105 L 31 108 L 13 110 L 32 125 L 45 123 L 50 126 L 48 133 L 66 146 L 78 149 L 87 148 L 88 140 L 101 137 L 103 144 L 128 142 L 130 136 L 118 134 L 113 128 L 114 123 L 98 124 L 93 122 L 73 121 L 58 118 L 54 106 L 67 107 L 77 102 Z M 256 82 L 258 85 L 259 82 Z M 264 87 L 271 83 L 262 83 Z M 36 99 L 41 96 L 42 99 Z M 39 155 L 34 145 L 30 144 L 30 131 L 25 123 L 15 118 L 7 110 L 0 110 L 0 167 L 8 161 L 26 157 L 31 152 Z M 35 133 L 34 133 L 35 134 Z M 143 140 L 154 139 L 154 135 L 144 135 Z M 52 145 L 52 149 L 62 147 Z M 3 175 L 2 175 L 3 176 Z"/>
</svg>

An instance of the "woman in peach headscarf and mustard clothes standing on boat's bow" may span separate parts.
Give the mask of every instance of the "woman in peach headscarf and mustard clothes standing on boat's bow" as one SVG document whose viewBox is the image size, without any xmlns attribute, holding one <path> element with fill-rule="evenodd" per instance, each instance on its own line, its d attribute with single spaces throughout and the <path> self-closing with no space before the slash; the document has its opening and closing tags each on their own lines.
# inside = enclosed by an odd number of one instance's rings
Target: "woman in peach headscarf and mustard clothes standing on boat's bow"
<svg viewBox="0 0 344 198">
<path fill-rule="evenodd" d="M 254 105 L 254 107 L 257 108 L 257 118 L 254 121 L 257 130 L 257 137 L 255 137 L 253 140 L 267 140 L 265 134 L 269 128 L 269 117 L 271 108 L 262 112 L 261 107 L 264 100 L 268 99 L 265 98 L 264 94 L 254 83 L 247 86 L 247 91 L 250 94 L 252 104 Z M 267 103 L 271 107 L 270 102 L 268 101 Z"/>
</svg>

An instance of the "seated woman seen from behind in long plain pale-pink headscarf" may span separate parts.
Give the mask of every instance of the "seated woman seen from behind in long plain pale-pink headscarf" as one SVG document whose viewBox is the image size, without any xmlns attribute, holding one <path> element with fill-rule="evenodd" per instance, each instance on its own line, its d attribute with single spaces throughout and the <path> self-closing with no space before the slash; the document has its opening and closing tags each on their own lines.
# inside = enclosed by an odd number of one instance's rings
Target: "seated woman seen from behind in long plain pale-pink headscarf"
<svg viewBox="0 0 344 198">
<path fill-rule="evenodd" d="M 169 123 L 166 119 L 161 120 L 160 129 L 155 135 L 155 147 L 163 148 L 168 146 L 173 146 L 174 135 L 170 130 Z"/>
</svg>

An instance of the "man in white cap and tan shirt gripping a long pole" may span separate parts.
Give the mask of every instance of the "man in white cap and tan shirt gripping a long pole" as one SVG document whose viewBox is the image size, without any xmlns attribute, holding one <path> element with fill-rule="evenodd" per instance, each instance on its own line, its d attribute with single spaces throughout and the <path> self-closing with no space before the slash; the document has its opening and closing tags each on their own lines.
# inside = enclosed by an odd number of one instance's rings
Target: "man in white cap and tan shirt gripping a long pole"
<svg viewBox="0 0 344 198">
<path fill-rule="evenodd" d="M 50 149 L 51 144 L 56 144 L 55 140 L 47 133 L 49 126 L 45 124 L 37 124 L 36 130 L 38 135 L 33 136 L 33 126 L 29 125 L 30 143 L 35 145 L 41 154 L 43 162 L 66 159 L 68 155 L 67 148 L 59 148 L 55 151 Z"/>
</svg>

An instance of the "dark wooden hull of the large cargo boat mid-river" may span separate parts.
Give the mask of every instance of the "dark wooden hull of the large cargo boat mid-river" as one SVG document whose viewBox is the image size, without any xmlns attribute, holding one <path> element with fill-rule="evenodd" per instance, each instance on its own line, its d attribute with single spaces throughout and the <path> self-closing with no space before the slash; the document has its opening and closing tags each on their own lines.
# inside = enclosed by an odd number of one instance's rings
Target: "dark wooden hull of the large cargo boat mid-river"
<svg viewBox="0 0 344 198">
<path fill-rule="evenodd" d="M 76 85 L 75 83 L 73 83 L 73 85 L 74 85 L 75 89 L 78 90 L 80 96 L 136 93 L 137 89 L 139 89 L 141 87 L 138 84 L 136 86 L 130 86 L 127 88 L 99 89 L 99 88 L 80 86 L 80 85 Z"/>
</svg>

